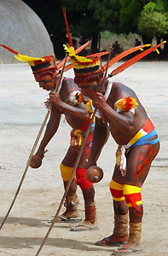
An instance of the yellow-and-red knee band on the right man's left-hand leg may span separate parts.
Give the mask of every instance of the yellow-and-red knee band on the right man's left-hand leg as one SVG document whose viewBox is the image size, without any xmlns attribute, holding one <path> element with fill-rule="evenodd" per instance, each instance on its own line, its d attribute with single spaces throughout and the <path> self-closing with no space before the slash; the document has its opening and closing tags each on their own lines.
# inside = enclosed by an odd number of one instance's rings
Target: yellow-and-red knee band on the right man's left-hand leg
<svg viewBox="0 0 168 256">
<path fill-rule="evenodd" d="M 113 196 L 113 201 L 123 201 L 125 200 L 125 195 L 123 194 L 124 185 L 116 183 L 113 179 L 110 182 L 110 192 Z"/>
</svg>

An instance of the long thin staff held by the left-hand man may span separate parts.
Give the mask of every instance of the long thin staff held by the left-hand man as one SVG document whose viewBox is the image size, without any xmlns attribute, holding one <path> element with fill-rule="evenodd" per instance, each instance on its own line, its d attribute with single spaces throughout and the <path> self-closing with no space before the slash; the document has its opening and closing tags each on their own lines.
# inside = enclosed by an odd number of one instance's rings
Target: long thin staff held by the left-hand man
<svg viewBox="0 0 168 256">
<path fill-rule="evenodd" d="M 60 75 L 60 77 L 59 77 L 59 79 L 58 79 L 57 84 L 55 85 L 55 91 L 58 90 L 59 84 L 61 83 L 61 79 L 62 79 L 62 75 L 63 75 L 63 72 L 64 72 L 64 68 L 65 68 L 65 66 L 66 66 L 66 62 L 67 62 L 67 54 L 66 54 L 66 57 L 65 57 L 65 60 L 64 60 L 64 65 L 63 65 L 63 67 L 62 67 L 62 69 L 61 69 L 61 75 Z M 6 219 L 8 218 L 9 213 L 10 213 L 12 207 L 14 206 L 14 202 L 15 202 L 15 200 L 16 200 L 16 198 L 17 198 L 17 195 L 18 195 L 19 192 L 20 192 L 21 185 L 22 185 L 22 183 L 23 183 L 23 181 L 24 181 L 24 179 L 25 179 L 25 177 L 26 177 L 26 172 L 27 172 L 28 167 L 30 166 L 30 163 L 31 163 L 31 160 L 32 160 L 32 155 L 34 154 L 34 151 L 35 151 L 35 149 L 36 149 L 36 147 L 37 147 L 37 145 L 38 145 L 39 138 L 41 137 L 41 134 L 42 134 L 42 132 L 43 132 L 44 125 L 46 124 L 47 119 L 48 119 L 48 117 L 49 117 L 49 113 L 50 113 L 50 111 L 51 111 L 51 107 L 52 107 L 52 105 L 51 105 L 51 103 L 49 103 L 48 112 L 47 112 L 47 114 L 46 114 L 46 116 L 45 116 L 45 118 L 44 118 L 44 120 L 43 120 L 43 124 L 41 125 L 40 130 L 38 131 L 38 136 L 37 136 L 37 138 L 36 138 L 36 140 L 35 140 L 35 143 L 33 144 L 31 154 L 29 155 L 29 158 L 28 158 L 28 160 L 27 160 L 25 172 L 23 173 L 23 175 L 22 175 L 22 177 L 21 177 L 21 179 L 20 179 L 20 183 L 19 183 L 18 189 L 16 190 L 16 193 L 15 193 L 15 195 L 14 195 L 14 199 L 13 199 L 13 201 L 12 201 L 10 207 L 9 207 L 9 211 L 7 212 L 5 218 L 3 218 L 3 223 L 2 223 L 1 226 L 0 226 L 0 230 L 3 228 L 3 224 L 5 223 Z"/>
</svg>

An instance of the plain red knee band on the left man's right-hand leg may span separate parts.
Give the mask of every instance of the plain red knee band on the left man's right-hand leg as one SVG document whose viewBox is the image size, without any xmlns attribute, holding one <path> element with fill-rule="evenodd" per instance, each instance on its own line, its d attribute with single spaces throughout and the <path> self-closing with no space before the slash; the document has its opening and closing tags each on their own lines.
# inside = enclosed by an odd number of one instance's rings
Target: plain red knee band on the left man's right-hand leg
<svg viewBox="0 0 168 256">
<path fill-rule="evenodd" d="M 82 189 L 82 191 L 86 189 L 90 189 L 93 186 L 93 183 L 90 183 L 86 178 L 86 170 L 85 168 L 77 168 L 76 176 L 77 180 L 76 183 Z"/>
</svg>

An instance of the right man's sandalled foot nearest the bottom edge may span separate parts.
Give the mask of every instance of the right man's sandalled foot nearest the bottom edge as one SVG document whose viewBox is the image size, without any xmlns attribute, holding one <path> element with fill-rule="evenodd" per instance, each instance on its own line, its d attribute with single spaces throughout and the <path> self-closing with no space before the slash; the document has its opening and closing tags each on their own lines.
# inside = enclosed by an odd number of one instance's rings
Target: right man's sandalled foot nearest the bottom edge
<svg viewBox="0 0 168 256">
<path fill-rule="evenodd" d="M 142 247 L 139 243 L 133 241 L 128 241 L 125 244 L 119 246 L 118 249 L 113 250 L 112 255 L 130 255 L 131 253 L 140 253 L 142 252 Z"/>
</svg>

